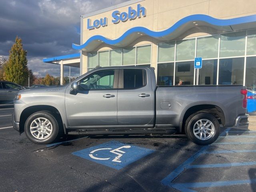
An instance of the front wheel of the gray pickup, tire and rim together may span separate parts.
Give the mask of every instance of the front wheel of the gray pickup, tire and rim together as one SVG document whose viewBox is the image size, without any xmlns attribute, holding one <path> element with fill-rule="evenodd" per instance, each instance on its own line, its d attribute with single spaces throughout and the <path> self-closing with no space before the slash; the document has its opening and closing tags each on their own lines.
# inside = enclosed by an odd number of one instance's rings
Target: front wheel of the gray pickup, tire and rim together
<svg viewBox="0 0 256 192">
<path fill-rule="evenodd" d="M 36 144 L 49 144 L 60 134 L 60 127 L 50 112 L 38 111 L 28 117 L 24 131 L 30 141 Z"/>
</svg>

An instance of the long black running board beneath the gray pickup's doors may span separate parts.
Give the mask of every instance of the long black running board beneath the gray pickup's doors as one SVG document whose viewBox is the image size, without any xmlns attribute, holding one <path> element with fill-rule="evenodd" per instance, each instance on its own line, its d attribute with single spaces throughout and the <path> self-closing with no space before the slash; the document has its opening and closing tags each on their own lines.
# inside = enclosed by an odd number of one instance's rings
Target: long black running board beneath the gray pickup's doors
<svg viewBox="0 0 256 192">
<path fill-rule="evenodd" d="M 174 134 L 176 128 L 129 128 L 129 129 L 80 129 L 67 130 L 69 135 L 89 135 L 89 134 Z"/>
</svg>

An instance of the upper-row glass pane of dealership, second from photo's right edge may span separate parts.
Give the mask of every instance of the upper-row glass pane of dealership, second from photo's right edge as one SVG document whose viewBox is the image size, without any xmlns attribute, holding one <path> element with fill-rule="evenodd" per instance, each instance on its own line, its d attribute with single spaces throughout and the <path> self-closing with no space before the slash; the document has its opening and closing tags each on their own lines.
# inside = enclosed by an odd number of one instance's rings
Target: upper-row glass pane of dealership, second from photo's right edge
<svg viewBox="0 0 256 192">
<path fill-rule="evenodd" d="M 220 57 L 245 54 L 245 31 L 220 35 Z"/>
</svg>

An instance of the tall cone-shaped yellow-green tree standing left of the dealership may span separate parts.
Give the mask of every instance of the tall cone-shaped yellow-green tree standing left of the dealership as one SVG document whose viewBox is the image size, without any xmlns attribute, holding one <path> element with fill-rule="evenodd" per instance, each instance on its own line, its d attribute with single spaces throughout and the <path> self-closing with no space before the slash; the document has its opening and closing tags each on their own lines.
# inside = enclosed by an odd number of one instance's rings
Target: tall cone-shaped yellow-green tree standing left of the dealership
<svg viewBox="0 0 256 192">
<path fill-rule="evenodd" d="M 22 39 L 16 36 L 15 43 L 10 50 L 8 62 L 4 66 L 5 80 L 20 85 L 26 83 L 28 79 L 28 60 L 26 56 L 27 51 L 22 47 Z"/>
</svg>

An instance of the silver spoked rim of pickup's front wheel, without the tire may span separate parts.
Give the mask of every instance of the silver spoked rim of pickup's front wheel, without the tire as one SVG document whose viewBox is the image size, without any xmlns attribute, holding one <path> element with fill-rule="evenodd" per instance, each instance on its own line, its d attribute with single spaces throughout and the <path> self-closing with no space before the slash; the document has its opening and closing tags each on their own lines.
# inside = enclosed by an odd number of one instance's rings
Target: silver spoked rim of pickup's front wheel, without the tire
<svg viewBox="0 0 256 192">
<path fill-rule="evenodd" d="M 36 118 L 30 124 L 30 133 L 36 139 L 46 139 L 52 134 L 52 123 L 46 118 Z"/>
</svg>

